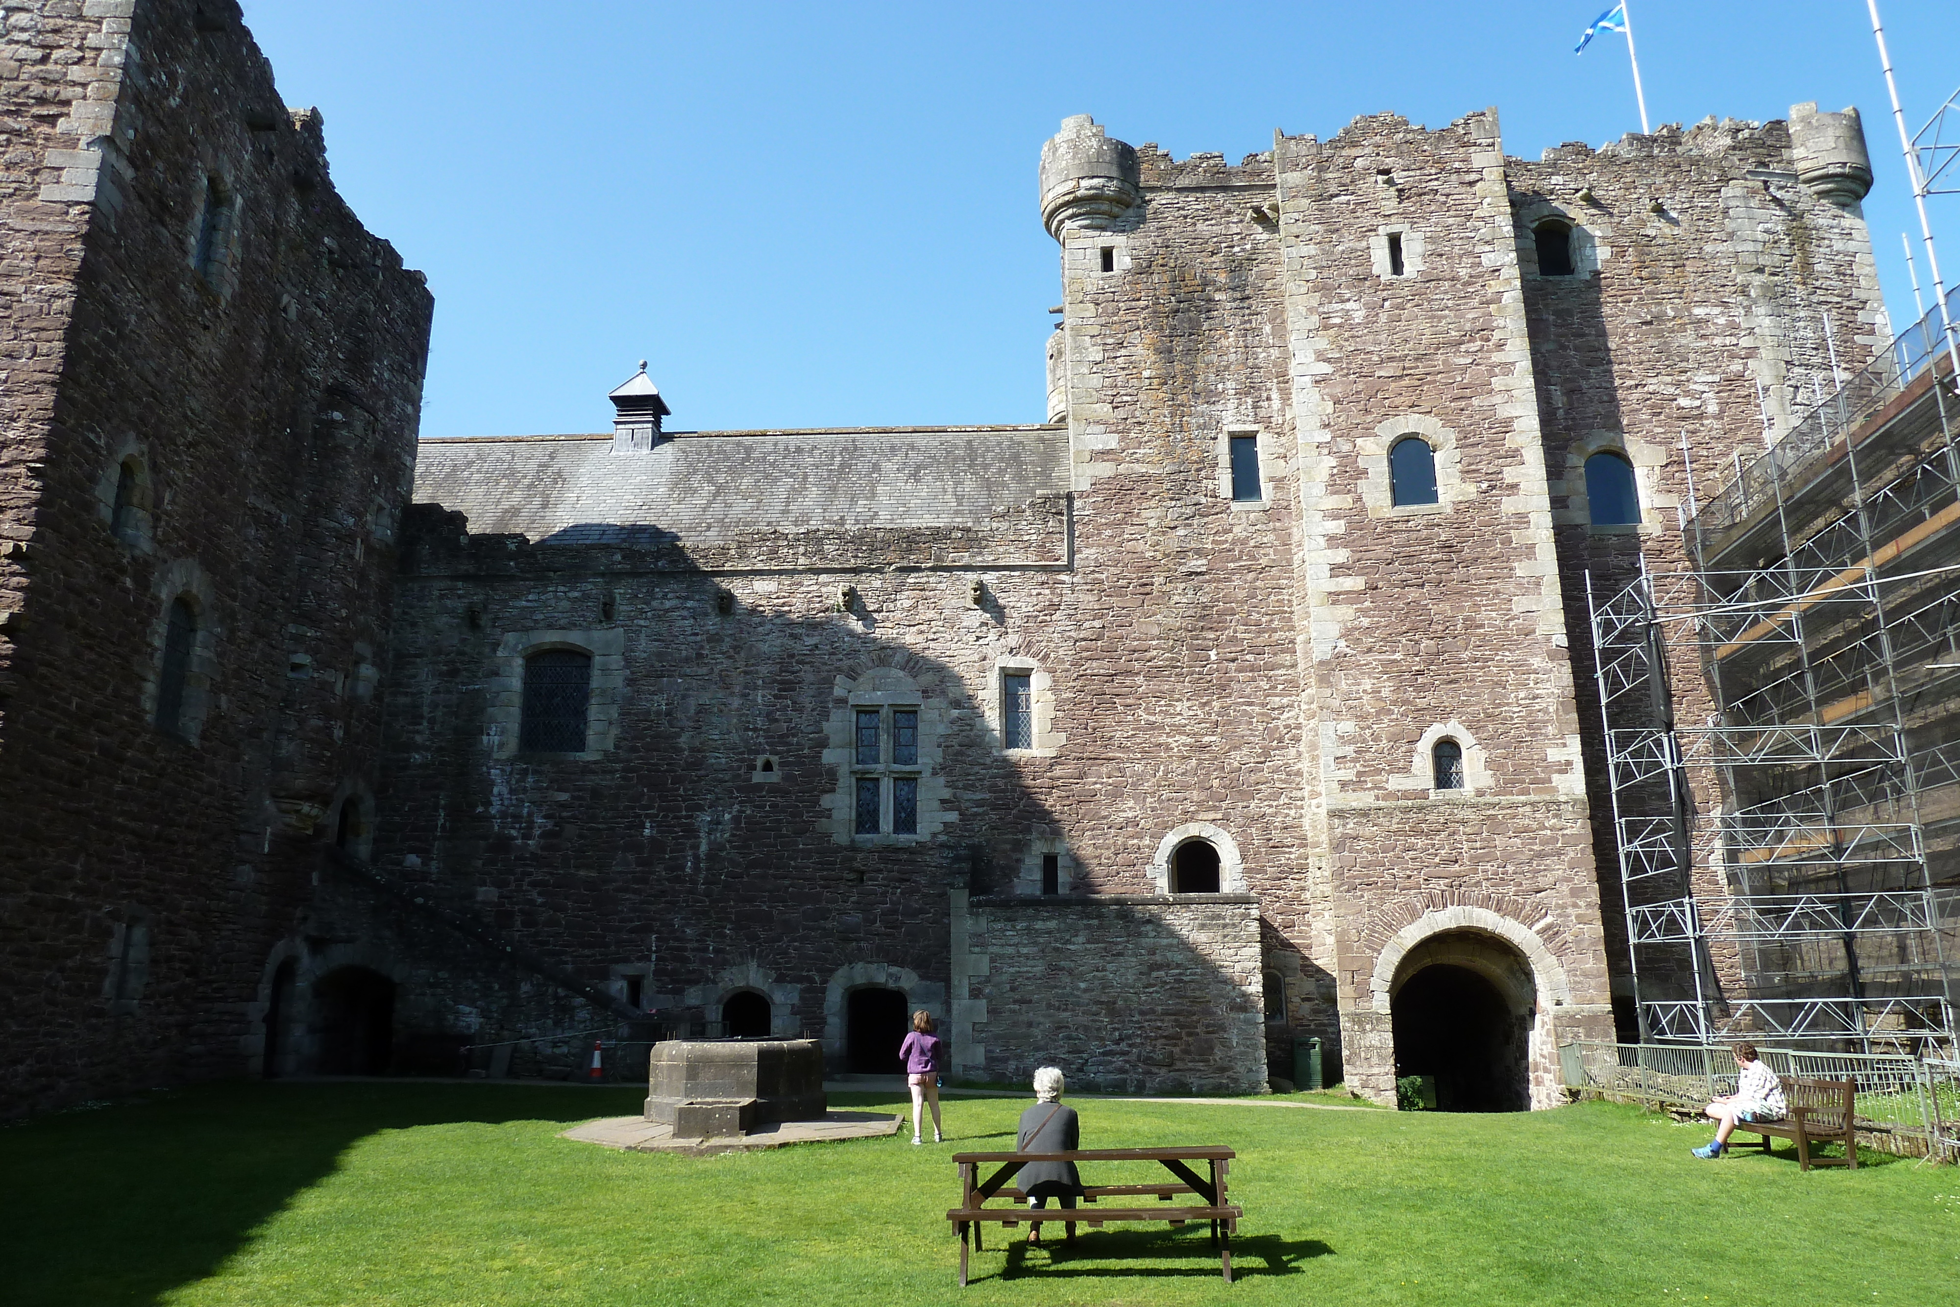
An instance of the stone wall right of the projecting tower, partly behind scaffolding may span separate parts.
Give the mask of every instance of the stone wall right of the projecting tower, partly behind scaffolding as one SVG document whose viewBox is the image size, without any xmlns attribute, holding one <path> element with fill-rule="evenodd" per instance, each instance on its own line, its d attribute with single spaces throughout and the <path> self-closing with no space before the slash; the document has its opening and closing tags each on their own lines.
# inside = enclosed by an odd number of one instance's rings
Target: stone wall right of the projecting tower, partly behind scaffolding
<svg viewBox="0 0 1960 1307">
<path fill-rule="evenodd" d="M 1801 106 L 1799 106 L 1801 108 Z M 1819 394 L 1835 390 L 1889 339 L 1870 235 L 1854 200 L 1799 182 L 1788 123 L 1662 127 L 1601 151 L 1562 145 L 1539 163 L 1509 163 L 1517 251 L 1531 331 L 1544 462 L 1566 631 L 1572 639 L 1580 735 L 1586 741 L 1593 854 L 1615 958 L 1619 1025 L 1635 1033 L 1627 929 L 1605 741 L 1592 676 L 1586 574 L 1599 602 L 1648 572 L 1688 570 L 1680 513 L 1705 496 L 1737 457 L 1764 447 L 1766 425 L 1788 431 Z M 1592 249 L 1593 270 L 1541 276 L 1531 223 L 1564 218 Z M 1684 453 L 1686 441 L 1686 453 Z M 1637 468 L 1646 521 L 1590 525 L 1584 460 L 1619 447 Z M 1693 466 L 1688 466 L 1688 455 Z M 1690 470 L 1693 486 L 1690 484 Z M 1674 633 L 1686 637 L 1686 633 Z M 1676 717 L 1713 713 L 1686 639 L 1672 654 Z M 1691 774 L 1705 821 L 1719 801 L 1707 768 Z M 1703 876 L 1695 894 L 1721 901 Z M 1717 984 L 1740 984 L 1740 958 L 1713 944 Z M 1648 995 L 1695 992 L 1686 950 L 1662 974 L 1648 954 Z"/>
</svg>

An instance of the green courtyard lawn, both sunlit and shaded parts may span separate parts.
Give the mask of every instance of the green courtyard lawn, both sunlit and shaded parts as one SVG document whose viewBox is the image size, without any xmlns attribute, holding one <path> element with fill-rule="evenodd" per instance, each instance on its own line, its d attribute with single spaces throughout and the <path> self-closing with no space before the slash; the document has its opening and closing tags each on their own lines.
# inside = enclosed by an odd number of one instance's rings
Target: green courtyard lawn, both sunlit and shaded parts
<svg viewBox="0 0 1960 1307">
<path fill-rule="evenodd" d="M 837 1095 L 835 1105 L 896 1105 Z M 1633 1107 L 1466 1117 L 1082 1101 L 1084 1146 L 1223 1142 L 1239 1283 L 1201 1229 L 1000 1250 L 955 1287 L 949 1142 L 682 1158 L 559 1138 L 633 1089 L 231 1084 L 0 1131 L 0 1301 L 39 1303 L 1911 1303 L 1960 1297 L 1960 1176 L 1868 1154 L 1697 1162 Z M 1111 1170 L 1096 1172 L 1111 1176 Z M 1053 1229 L 1053 1227 L 1051 1227 Z"/>
</svg>

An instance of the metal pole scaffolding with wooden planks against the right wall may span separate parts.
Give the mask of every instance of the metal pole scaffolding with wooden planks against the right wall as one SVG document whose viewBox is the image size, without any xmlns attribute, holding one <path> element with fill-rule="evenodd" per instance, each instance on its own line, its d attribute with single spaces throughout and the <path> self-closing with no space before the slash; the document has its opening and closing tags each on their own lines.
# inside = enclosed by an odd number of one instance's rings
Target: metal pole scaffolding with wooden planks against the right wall
<svg viewBox="0 0 1960 1307">
<path fill-rule="evenodd" d="M 1650 572 L 1644 557 L 1631 584 L 1588 570 L 1642 1041 L 1954 1048 L 1960 347 L 1946 308 L 1709 502 L 1693 504 L 1688 468 L 1688 570 Z M 1678 692 L 1670 666 L 1701 686 Z M 1709 711 L 1678 721 L 1682 703 Z"/>
</svg>

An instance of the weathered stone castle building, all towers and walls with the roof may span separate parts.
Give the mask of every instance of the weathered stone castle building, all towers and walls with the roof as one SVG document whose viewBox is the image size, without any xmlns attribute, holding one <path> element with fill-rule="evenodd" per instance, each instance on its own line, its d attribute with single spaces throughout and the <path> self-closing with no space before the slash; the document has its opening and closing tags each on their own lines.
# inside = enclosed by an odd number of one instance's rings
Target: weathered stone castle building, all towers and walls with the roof
<svg viewBox="0 0 1960 1307">
<path fill-rule="evenodd" d="M 1674 566 L 1684 435 L 1748 451 L 1886 335 L 1854 118 L 1239 165 L 1076 118 L 1047 423 L 666 433 L 637 376 L 613 435 L 417 468 L 429 296 L 237 10 L 6 37 L 12 1109 L 453 1070 L 627 999 L 841 1068 L 870 992 L 974 1078 L 1245 1091 L 1319 1035 L 1376 1097 L 1482 995 L 1458 1101 L 1552 1103 L 1625 988 L 1586 568 Z M 1592 523 L 1599 451 L 1641 523 Z M 523 743 L 539 651 L 590 656 L 576 752 Z"/>
</svg>

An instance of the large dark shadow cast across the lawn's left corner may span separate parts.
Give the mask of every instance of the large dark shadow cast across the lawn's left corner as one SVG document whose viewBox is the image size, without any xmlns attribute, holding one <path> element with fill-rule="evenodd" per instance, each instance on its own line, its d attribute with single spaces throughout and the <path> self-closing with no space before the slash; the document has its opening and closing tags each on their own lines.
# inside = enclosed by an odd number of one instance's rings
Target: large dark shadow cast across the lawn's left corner
<svg viewBox="0 0 1960 1307">
<path fill-rule="evenodd" d="M 639 1111 L 645 1089 L 231 1082 L 0 1133 L 10 1307 L 157 1303 L 218 1272 L 376 1131 Z M 25 1250 L 31 1250 L 25 1252 Z"/>
</svg>

